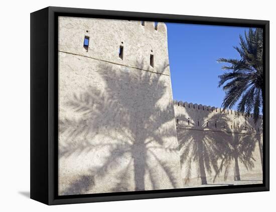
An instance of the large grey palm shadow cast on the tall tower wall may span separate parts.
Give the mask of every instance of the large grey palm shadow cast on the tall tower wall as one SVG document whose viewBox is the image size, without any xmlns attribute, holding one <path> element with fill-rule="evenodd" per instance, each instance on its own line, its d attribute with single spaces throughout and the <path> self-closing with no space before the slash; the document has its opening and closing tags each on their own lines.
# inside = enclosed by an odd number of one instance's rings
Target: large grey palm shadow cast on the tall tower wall
<svg viewBox="0 0 276 212">
<path fill-rule="evenodd" d="M 168 138 L 176 136 L 175 125 L 171 124 L 175 121 L 171 116 L 174 114 L 173 104 L 162 103 L 164 100 L 169 102 L 168 89 L 171 88 L 165 84 L 169 76 L 164 76 L 168 65 L 163 65 L 160 74 L 145 71 L 149 67 L 143 63 L 137 63 L 137 67 L 144 71 L 115 67 L 99 65 L 97 70 L 105 88 L 99 90 L 90 86 L 80 94 L 75 93 L 68 101 L 68 107 L 80 118 L 67 117 L 59 121 L 59 133 L 70 138 L 59 146 L 60 159 L 107 149 L 102 156 L 103 164 L 91 166 L 91 180 L 86 175 L 80 176 L 63 194 L 86 191 L 87 187 L 95 186 L 96 177 L 108 176 L 111 169 L 119 170 L 117 178 L 120 180 L 110 192 L 130 190 L 131 174 L 134 190 L 145 190 L 146 172 L 152 188 L 161 189 L 161 178 L 154 166 L 168 177 L 171 187 L 179 187 L 174 168 L 161 157 L 162 154 L 159 155 L 159 152 L 178 154 L 177 145 L 168 144 Z M 99 135 L 104 137 L 103 141 L 95 142 Z M 121 168 L 121 160 L 125 157 L 128 158 L 127 165 Z"/>
</svg>

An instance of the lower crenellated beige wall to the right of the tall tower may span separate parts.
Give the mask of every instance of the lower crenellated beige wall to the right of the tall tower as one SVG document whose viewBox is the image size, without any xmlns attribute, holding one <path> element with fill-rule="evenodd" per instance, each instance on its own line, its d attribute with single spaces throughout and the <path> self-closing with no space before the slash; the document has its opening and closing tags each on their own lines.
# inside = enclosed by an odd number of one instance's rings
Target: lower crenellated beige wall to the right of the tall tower
<svg viewBox="0 0 276 212">
<path fill-rule="evenodd" d="M 235 184 L 235 156 L 241 180 L 260 183 L 262 117 L 254 124 L 251 115 L 177 101 L 174 110 L 184 186 L 201 185 L 204 174 L 208 184 Z M 222 153 L 227 162 L 218 159 Z M 221 168 L 218 175 L 213 164 Z"/>
</svg>

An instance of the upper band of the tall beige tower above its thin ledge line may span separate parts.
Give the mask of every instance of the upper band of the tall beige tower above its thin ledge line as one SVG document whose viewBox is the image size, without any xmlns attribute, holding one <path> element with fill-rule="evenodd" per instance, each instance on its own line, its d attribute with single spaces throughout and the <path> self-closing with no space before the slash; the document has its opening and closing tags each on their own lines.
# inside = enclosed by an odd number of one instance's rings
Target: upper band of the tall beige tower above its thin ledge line
<svg viewBox="0 0 276 212">
<path fill-rule="evenodd" d="M 83 48 L 84 37 L 89 37 L 88 51 Z M 123 46 L 123 60 L 119 58 L 119 47 Z M 154 22 L 59 18 L 59 51 L 70 52 L 115 64 L 146 69 L 170 75 L 167 28 Z M 150 55 L 154 55 L 154 68 L 150 66 Z"/>
</svg>

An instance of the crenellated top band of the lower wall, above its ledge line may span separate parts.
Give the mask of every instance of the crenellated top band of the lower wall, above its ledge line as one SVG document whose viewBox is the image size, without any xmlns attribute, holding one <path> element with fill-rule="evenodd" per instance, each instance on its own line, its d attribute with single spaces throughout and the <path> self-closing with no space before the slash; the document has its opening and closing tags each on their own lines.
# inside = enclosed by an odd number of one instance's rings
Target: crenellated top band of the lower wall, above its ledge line
<svg viewBox="0 0 276 212">
<path fill-rule="evenodd" d="M 235 110 L 174 100 L 178 127 L 240 133 L 262 133 L 262 116 L 254 123 L 253 115 Z"/>
</svg>

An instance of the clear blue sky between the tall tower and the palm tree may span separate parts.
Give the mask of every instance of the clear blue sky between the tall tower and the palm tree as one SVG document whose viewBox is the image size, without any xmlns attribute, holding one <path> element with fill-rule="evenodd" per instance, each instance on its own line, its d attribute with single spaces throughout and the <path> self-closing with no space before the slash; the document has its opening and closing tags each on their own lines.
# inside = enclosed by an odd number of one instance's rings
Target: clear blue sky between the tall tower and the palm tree
<svg viewBox="0 0 276 212">
<path fill-rule="evenodd" d="M 239 59 L 233 46 L 239 46 L 239 34 L 249 28 L 166 25 L 174 100 L 221 107 L 225 93 L 217 85 L 223 64 L 216 60 Z"/>
</svg>

